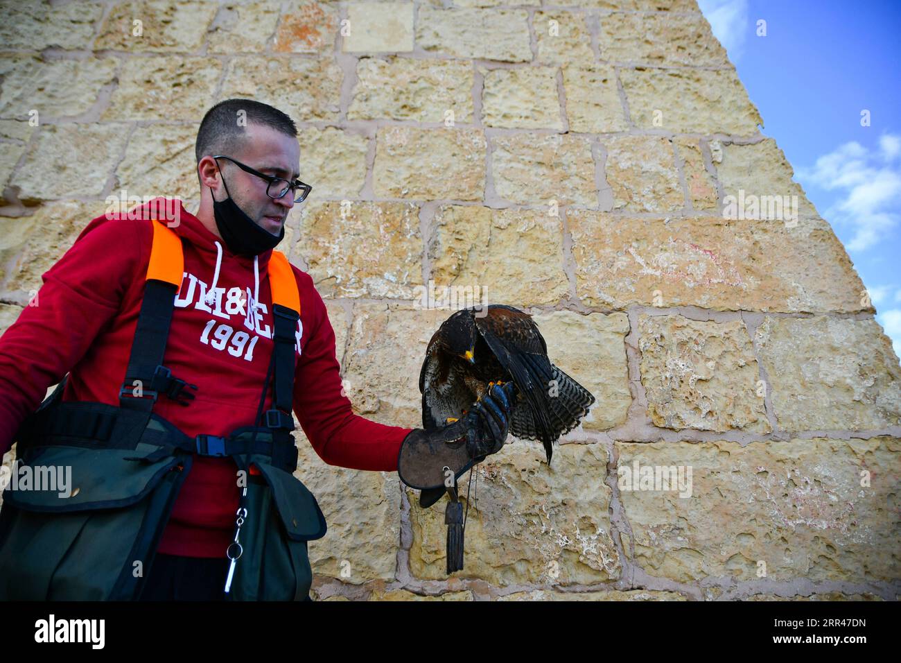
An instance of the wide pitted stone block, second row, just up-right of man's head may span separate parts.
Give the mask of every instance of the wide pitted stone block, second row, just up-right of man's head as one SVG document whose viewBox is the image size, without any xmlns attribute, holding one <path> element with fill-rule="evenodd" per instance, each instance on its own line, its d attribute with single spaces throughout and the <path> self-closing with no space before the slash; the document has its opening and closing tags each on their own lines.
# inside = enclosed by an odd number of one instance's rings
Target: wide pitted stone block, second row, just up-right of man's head
<svg viewBox="0 0 901 663">
<path fill-rule="evenodd" d="M 472 65 L 462 60 L 360 58 L 349 120 L 389 117 L 416 122 L 472 122 Z"/>
</svg>

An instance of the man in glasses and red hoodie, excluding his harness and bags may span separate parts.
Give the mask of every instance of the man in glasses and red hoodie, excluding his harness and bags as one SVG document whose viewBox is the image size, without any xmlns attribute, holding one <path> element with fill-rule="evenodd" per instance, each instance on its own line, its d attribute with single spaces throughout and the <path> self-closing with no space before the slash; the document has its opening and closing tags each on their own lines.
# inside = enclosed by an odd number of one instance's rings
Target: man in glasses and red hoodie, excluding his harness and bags
<svg viewBox="0 0 901 663">
<path fill-rule="evenodd" d="M 310 191 L 297 180 L 296 135 L 287 115 L 247 99 L 212 107 L 198 130 L 200 207 L 195 216 L 177 201 L 167 224 L 180 239 L 184 272 L 164 364 L 183 382 L 187 397 L 160 397 L 152 404 L 154 416 L 187 437 L 227 437 L 236 428 L 258 425 L 258 404 L 274 410 L 268 371 L 275 364 L 276 325 L 268 266 L 288 212 Z M 123 395 L 132 395 L 123 388 L 123 376 L 145 283 L 150 283 L 145 275 L 155 232 L 151 225 L 158 223 L 150 221 L 148 206 L 144 211 L 148 214 L 142 218 L 119 214 L 92 220 L 43 275 L 39 305 L 24 308 L 0 337 L 0 453 L 12 446 L 23 421 L 66 373 L 64 402 L 118 405 Z M 441 448 L 431 444 L 431 434 L 352 412 L 341 395 L 335 336 L 323 299 L 308 274 L 293 265 L 291 271 L 300 299 L 292 405 L 316 453 L 329 465 L 396 471 L 402 444 L 416 431 L 417 444 L 437 449 L 426 454 L 428 462 L 448 465 Z M 265 405 L 259 403 L 261 390 Z M 505 412 L 486 402 L 492 417 L 479 410 L 480 417 L 442 428 L 441 445 L 465 439 L 469 457 L 478 459 L 496 451 L 506 434 Z M 459 465 L 451 467 L 460 474 Z M 142 585 L 142 599 L 223 598 L 233 557 L 226 557 L 226 550 L 234 540 L 239 507 L 237 470 L 229 456 L 193 457 Z M 3 543 L 0 539 L 0 550 Z"/>
</svg>

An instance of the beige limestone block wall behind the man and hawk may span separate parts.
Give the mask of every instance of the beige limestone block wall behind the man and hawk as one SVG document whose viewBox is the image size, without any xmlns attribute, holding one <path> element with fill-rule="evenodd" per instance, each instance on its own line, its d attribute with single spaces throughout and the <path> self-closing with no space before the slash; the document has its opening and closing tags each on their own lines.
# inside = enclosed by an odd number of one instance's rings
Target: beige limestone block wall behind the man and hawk
<svg viewBox="0 0 901 663">
<path fill-rule="evenodd" d="M 450 578 L 443 502 L 298 436 L 314 598 L 896 600 L 898 358 L 695 0 L 3 9 L 0 328 L 108 196 L 196 211 L 199 121 L 250 97 L 301 128 L 279 248 L 359 414 L 421 425 L 430 282 L 532 312 L 596 395 L 550 467 L 479 465 Z"/>
</svg>

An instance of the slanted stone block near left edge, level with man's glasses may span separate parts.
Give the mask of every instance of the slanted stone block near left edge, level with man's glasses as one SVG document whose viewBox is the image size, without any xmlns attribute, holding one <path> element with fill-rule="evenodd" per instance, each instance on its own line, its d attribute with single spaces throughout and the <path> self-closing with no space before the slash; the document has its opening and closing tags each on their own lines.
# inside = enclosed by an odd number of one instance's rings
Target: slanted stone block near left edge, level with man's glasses
<svg viewBox="0 0 901 663">
<path fill-rule="evenodd" d="M 123 124 L 42 124 L 10 184 L 23 202 L 99 196 L 127 137 Z"/>
</svg>

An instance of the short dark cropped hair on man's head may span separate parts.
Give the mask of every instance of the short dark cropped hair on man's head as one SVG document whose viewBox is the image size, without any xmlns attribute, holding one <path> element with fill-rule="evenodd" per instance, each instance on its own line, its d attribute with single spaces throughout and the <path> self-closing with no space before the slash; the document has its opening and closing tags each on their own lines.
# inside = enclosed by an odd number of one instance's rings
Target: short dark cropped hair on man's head
<svg viewBox="0 0 901 663">
<path fill-rule="evenodd" d="M 241 112 L 243 115 L 239 115 Z M 194 146 L 197 163 L 207 155 L 232 154 L 241 149 L 246 136 L 246 126 L 238 124 L 241 116 L 248 124 L 265 124 L 282 134 L 297 135 L 294 120 L 278 108 L 252 99 L 226 99 L 206 111 L 200 122 Z"/>
</svg>

